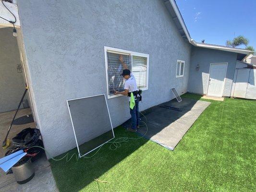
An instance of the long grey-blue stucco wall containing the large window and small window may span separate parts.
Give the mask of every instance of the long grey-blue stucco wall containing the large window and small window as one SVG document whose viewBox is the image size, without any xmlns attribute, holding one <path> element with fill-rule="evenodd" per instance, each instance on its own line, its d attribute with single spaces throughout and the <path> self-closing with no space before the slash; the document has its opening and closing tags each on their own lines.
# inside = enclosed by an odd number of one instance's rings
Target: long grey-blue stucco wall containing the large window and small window
<svg viewBox="0 0 256 192">
<path fill-rule="evenodd" d="M 104 46 L 149 54 L 140 110 L 187 91 L 191 45 L 162 0 L 18 1 L 37 126 L 57 156 L 75 147 L 67 99 L 107 94 Z M 68 14 L 67 14 L 68 13 Z M 184 76 L 175 77 L 177 60 Z M 113 126 L 130 118 L 128 98 L 107 100 Z"/>
</svg>

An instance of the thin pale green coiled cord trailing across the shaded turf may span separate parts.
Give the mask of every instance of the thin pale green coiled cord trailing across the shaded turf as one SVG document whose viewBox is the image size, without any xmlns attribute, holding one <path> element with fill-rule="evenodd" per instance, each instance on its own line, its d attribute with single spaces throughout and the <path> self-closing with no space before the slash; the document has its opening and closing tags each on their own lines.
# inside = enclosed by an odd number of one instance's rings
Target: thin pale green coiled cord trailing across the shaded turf
<svg viewBox="0 0 256 192">
<path fill-rule="evenodd" d="M 141 113 L 141 112 L 139 112 L 139 113 L 140 113 L 141 115 L 143 115 L 144 118 L 146 119 L 146 116 L 145 116 L 143 113 Z M 119 137 L 119 138 L 115 139 L 114 141 L 109 141 L 109 142 L 107 142 L 106 144 L 108 144 L 108 143 L 110 144 L 110 150 L 111 150 L 111 151 L 116 150 L 117 148 L 119 148 L 119 147 L 122 146 L 122 143 L 127 143 L 127 142 L 129 142 L 129 140 L 137 140 L 137 139 L 143 138 L 143 137 L 146 135 L 147 130 L 148 130 L 148 127 L 147 127 L 147 124 L 146 124 L 147 119 L 146 119 L 146 122 L 145 122 L 145 121 L 142 121 L 142 120 L 141 120 L 140 122 L 143 122 L 143 123 L 145 124 L 145 126 L 146 126 L 146 132 L 145 132 L 144 135 L 142 135 L 142 136 L 140 136 L 140 137 L 138 137 L 138 138 Z M 141 126 L 141 125 L 140 125 L 140 126 Z M 87 158 L 92 158 L 93 156 L 95 156 L 95 155 L 99 152 L 99 150 L 100 150 L 101 147 L 103 147 L 103 146 L 104 146 L 104 144 L 101 145 L 101 146 L 98 148 L 98 150 L 97 150 L 92 156 L 82 156 L 82 157 L 84 157 L 85 159 L 87 159 Z M 59 158 L 59 159 L 56 159 L 56 158 L 54 158 L 54 157 L 51 157 L 50 154 L 49 154 L 49 152 L 48 152 L 45 148 L 43 148 L 43 147 L 41 147 L 41 146 L 32 146 L 32 147 L 29 147 L 28 149 L 31 149 L 31 148 L 34 148 L 34 147 L 43 149 L 43 150 L 48 154 L 48 156 L 50 157 L 50 159 L 52 159 L 52 160 L 54 160 L 54 161 L 61 161 L 62 159 L 66 158 L 66 162 L 69 162 L 69 161 L 73 158 L 73 156 L 75 156 L 76 161 L 79 160 L 79 156 L 78 156 L 76 153 L 73 153 L 71 157 L 69 157 L 69 153 L 67 153 L 67 154 L 64 155 L 63 157 L 61 157 L 61 158 Z"/>
</svg>

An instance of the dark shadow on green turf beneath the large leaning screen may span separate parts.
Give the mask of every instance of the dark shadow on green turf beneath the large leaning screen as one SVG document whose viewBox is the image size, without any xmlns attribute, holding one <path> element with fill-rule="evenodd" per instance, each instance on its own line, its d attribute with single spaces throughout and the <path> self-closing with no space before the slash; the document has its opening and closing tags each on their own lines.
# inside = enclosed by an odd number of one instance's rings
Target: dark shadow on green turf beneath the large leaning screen
<svg viewBox="0 0 256 192">
<path fill-rule="evenodd" d="M 137 134 L 127 132 L 121 126 L 115 128 L 114 132 L 116 137 L 115 139 L 120 137 L 139 138 Z M 73 157 L 69 162 L 66 162 L 66 159 L 61 161 L 54 161 L 51 159 L 51 170 L 59 191 L 79 191 L 85 188 L 86 185 L 117 165 L 122 161 L 122 159 L 132 154 L 146 142 L 148 142 L 148 140 L 144 138 L 130 140 L 127 143 L 122 143 L 122 145 L 116 150 L 110 150 L 110 144 L 108 143 L 103 145 L 95 156 L 91 158 L 80 158 L 78 161 L 76 161 L 75 157 Z M 94 155 L 95 152 L 88 154 L 88 156 Z M 71 157 L 72 154 L 77 154 L 78 152 L 77 149 L 74 148 L 68 153 L 69 157 Z M 61 158 L 65 154 L 56 157 L 56 159 Z"/>
</svg>

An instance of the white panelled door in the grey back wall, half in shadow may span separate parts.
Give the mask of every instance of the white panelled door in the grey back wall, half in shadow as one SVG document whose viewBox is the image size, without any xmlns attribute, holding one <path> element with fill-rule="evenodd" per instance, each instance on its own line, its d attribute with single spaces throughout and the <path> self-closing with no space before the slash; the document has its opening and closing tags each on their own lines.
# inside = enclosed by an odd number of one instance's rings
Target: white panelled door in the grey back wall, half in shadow
<svg viewBox="0 0 256 192">
<path fill-rule="evenodd" d="M 227 66 L 228 63 L 210 64 L 207 96 L 222 96 Z"/>
</svg>

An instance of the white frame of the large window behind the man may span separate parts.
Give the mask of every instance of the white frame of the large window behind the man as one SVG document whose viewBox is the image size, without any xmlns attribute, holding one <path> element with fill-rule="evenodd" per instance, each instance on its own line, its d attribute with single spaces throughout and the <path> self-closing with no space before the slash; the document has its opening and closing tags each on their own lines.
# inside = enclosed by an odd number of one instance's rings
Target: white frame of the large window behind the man
<svg viewBox="0 0 256 192">
<path fill-rule="evenodd" d="M 128 50 L 124 50 L 124 49 L 120 49 L 120 48 L 111 48 L 111 47 L 104 46 L 108 99 L 123 96 L 123 95 L 118 94 L 118 95 L 110 96 L 110 93 L 109 93 L 109 79 L 108 79 L 108 55 L 107 55 L 107 51 L 111 52 L 111 53 L 117 53 L 117 54 L 129 55 L 129 56 L 146 57 L 146 87 L 141 88 L 141 90 L 142 91 L 148 90 L 149 55 L 145 54 L 145 53 L 138 53 L 138 52 L 128 51 Z M 131 62 L 132 62 L 131 66 L 133 68 L 133 59 L 132 59 Z"/>
</svg>

